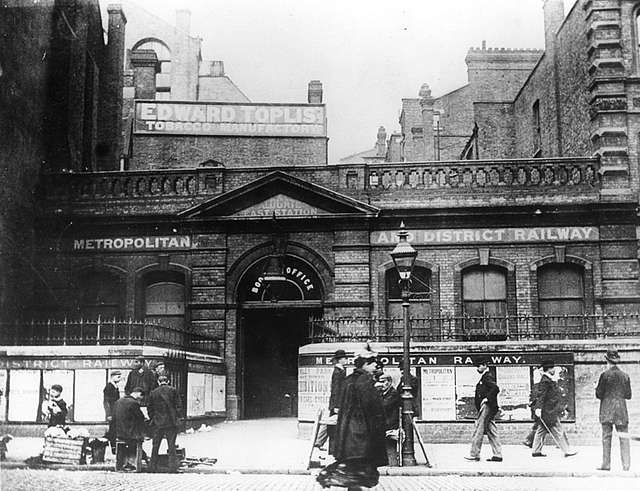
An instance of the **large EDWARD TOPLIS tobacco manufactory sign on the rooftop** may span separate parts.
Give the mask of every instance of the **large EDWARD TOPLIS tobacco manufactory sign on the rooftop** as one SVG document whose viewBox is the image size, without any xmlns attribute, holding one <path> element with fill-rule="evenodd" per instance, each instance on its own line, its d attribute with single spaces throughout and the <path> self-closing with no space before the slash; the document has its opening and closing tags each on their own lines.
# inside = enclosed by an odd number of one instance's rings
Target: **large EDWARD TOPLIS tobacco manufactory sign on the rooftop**
<svg viewBox="0 0 640 491">
<path fill-rule="evenodd" d="M 322 104 L 136 101 L 136 133 L 203 136 L 327 135 Z"/>
</svg>

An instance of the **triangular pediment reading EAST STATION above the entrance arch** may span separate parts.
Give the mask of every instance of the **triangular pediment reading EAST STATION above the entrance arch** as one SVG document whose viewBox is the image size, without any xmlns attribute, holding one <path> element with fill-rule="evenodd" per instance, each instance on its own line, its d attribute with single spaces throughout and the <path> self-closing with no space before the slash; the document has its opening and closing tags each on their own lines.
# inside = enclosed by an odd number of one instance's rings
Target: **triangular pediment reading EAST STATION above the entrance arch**
<svg viewBox="0 0 640 491">
<path fill-rule="evenodd" d="M 184 210 L 189 218 L 261 219 L 376 216 L 378 208 L 330 189 L 273 172 Z"/>
</svg>

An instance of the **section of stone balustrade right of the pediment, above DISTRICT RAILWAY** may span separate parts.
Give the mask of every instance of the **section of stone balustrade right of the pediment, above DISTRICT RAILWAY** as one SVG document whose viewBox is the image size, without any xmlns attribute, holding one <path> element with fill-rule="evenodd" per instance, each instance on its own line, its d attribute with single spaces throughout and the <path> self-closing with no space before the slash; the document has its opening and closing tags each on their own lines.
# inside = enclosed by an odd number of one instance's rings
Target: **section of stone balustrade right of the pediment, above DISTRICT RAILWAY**
<svg viewBox="0 0 640 491">
<path fill-rule="evenodd" d="M 468 160 L 455 162 L 405 162 L 374 164 L 367 168 L 370 191 L 397 189 L 473 190 L 595 188 L 599 184 L 598 160 L 531 159 Z"/>
</svg>

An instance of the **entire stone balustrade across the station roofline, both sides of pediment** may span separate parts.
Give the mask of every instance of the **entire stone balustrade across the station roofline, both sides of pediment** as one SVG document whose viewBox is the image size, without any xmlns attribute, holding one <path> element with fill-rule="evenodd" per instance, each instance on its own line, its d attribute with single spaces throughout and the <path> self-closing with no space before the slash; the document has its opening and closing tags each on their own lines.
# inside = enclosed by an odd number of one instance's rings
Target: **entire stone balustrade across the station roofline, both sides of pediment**
<svg viewBox="0 0 640 491">
<path fill-rule="evenodd" d="M 281 170 L 300 179 L 361 197 L 381 199 L 397 191 L 424 191 L 434 196 L 486 194 L 536 195 L 600 191 L 600 162 L 596 158 L 464 160 L 356 165 L 304 166 L 273 169 L 187 168 L 93 173 L 47 174 L 42 189 L 53 201 L 148 200 L 162 197 L 192 200 L 223 193 Z M 444 193 L 440 192 L 444 191 Z"/>
</svg>

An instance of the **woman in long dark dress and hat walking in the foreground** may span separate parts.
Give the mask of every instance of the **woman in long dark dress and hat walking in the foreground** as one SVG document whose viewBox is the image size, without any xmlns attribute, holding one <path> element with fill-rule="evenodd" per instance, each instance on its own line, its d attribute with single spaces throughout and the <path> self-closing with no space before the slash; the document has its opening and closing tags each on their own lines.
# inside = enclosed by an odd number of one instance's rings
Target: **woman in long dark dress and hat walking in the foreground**
<svg viewBox="0 0 640 491">
<path fill-rule="evenodd" d="M 323 487 L 359 490 L 376 486 L 377 467 L 387 465 L 384 408 L 373 376 L 376 362 L 376 353 L 369 349 L 356 353 L 355 370 L 345 380 L 338 413 L 336 462 L 318 475 Z"/>
</svg>

